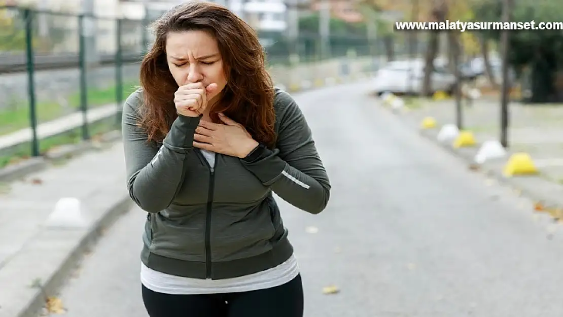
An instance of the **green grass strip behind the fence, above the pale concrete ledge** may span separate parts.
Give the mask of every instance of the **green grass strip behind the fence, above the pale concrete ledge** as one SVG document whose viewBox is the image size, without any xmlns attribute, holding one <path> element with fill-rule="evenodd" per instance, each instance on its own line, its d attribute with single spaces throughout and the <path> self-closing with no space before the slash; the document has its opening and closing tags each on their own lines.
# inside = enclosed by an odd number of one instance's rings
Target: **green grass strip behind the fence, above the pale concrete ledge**
<svg viewBox="0 0 563 317">
<path fill-rule="evenodd" d="M 133 86 L 138 82 L 129 81 L 124 83 L 123 98 L 126 98 L 133 90 Z M 111 86 L 105 89 L 90 88 L 87 92 L 88 107 L 111 104 L 115 102 L 116 87 Z M 70 112 L 78 110 L 80 107 L 80 92 L 70 93 L 66 97 Z M 62 115 L 68 114 L 69 109 L 65 109 L 56 100 L 38 100 L 36 104 L 37 122 L 46 122 L 57 119 Z M 15 132 L 30 126 L 29 106 L 27 101 L 9 101 L 8 109 L 0 110 L 0 135 Z"/>
</svg>

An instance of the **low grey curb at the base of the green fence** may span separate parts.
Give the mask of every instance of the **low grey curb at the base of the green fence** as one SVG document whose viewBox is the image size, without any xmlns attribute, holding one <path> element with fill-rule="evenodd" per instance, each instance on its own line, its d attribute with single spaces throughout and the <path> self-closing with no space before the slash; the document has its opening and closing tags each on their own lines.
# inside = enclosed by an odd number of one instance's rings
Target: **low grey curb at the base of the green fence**
<svg viewBox="0 0 563 317">
<path fill-rule="evenodd" d="M 20 163 L 8 165 L 0 168 L 0 182 L 11 182 L 28 176 L 31 173 L 40 172 L 50 166 L 51 162 L 61 159 L 69 159 L 76 155 L 86 153 L 91 150 L 99 150 L 101 145 L 118 141 L 121 134 L 118 130 L 106 132 L 100 137 L 100 142 L 82 141 L 78 144 L 61 145 L 59 148 L 48 151 L 41 157 L 25 159 Z"/>
</svg>

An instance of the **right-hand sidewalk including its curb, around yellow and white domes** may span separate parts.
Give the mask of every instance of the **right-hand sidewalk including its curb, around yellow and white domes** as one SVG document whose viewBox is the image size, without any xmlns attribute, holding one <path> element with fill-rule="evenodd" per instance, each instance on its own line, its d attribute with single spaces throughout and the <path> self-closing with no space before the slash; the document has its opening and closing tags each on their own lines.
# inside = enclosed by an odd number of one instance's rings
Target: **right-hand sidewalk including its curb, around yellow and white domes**
<svg viewBox="0 0 563 317">
<path fill-rule="evenodd" d="M 471 169 L 488 175 L 489 181 L 506 184 L 517 193 L 533 199 L 537 202 L 535 211 L 548 212 L 554 220 L 563 221 L 563 106 L 511 103 L 506 157 L 476 164 L 475 155 L 480 146 L 485 141 L 500 140 L 501 102 L 476 100 L 472 106 L 466 106 L 464 102 L 463 130 L 473 133 L 476 145 L 459 149 L 455 149 L 453 144 L 440 144 L 437 141 L 440 128 L 456 122 L 455 100 L 418 100 L 414 106 L 392 111 L 408 127 L 418 130 L 423 136 L 465 160 Z M 381 100 L 377 100 L 376 105 L 388 108 Z M 421 123 L 425 117 L 434 118 L 436 127 L 422 130 Z M 538 175 L 503 175 L 508 158 L 519 152 L 530 155 L 539 171 Z"/>
</svg>

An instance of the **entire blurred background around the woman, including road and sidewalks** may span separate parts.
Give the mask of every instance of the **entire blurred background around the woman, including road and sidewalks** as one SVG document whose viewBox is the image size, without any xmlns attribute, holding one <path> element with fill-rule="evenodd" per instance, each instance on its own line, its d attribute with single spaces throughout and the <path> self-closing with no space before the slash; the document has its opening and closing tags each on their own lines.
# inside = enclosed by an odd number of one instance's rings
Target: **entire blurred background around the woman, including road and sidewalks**
<svg viewBox="0 0 563 317">
<path fill-rule="evenodd" d="M 479 315 L 477 302 L 482 316 L 508 315 L 507 307 L 561 315 L 563 253 L 552 241 L 563 220 L 560 0 L 218 2 L 257 31 L 275 84 L 302 105 L 335 184 L 330 210 L 314 220 L 283 207 L 309 276 L 309 316 Z M 43 305 L 62 311 L 44 294 L 55 294 L 78 261 L 67 255 L 86 251 L 84 241 L 131 209 L 122 104 L 139 84 L 148 25 L 178 3 L 0 0 L 0 317 L 32 316 L 20 312 Z M 395 28 L 458 20 L 551 29 Z M 335 125 L 341 117 L 349 121 Z M 404 133 L 396 117 L 465 155 L 471 172 Z M 479 169 L 513 181 L 518 194 L 501 194 L 492 178 L 482 186 Z M 530 210 L 547 211 L 547 225 L 529 220 Z M 82 226 L 83 216 L 88 235 L 78 239 L 65 226 Z M 65 230 L 51 230 L 53 218 Z M 131 303 L 142 315 L 130 268 L 138 267 L 144 214 L 124 219 L 63 296 L 70 317 L 127 316 Z M 345 292 L 325 298 L 335 285 Z"/>
</svg>

